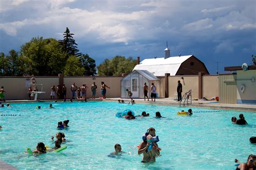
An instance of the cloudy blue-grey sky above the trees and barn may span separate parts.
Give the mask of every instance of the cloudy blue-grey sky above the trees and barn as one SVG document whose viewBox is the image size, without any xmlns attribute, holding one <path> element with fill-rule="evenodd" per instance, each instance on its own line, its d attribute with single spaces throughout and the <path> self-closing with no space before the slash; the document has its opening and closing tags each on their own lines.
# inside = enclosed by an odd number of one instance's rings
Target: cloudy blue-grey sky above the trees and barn
<svg viewBox="0 0 256 170">
<path fill-rule="evenodd" d="M 63 38 L 99 65 L 116 55 L 137 59 L 194 55 L 211 74 L 251 64 L 256 55 L 255 0 L 83 1 L 1 0 L 0 52 L 19 51 L 32 37 Z"/>
</svg>

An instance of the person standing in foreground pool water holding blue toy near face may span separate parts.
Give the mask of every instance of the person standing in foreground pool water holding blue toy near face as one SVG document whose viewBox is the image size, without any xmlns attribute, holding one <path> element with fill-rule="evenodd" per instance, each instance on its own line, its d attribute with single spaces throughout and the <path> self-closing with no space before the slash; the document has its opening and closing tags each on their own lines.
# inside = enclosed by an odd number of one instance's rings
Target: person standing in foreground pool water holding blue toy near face
<svg viewBox="0 0 256 170">
<path fill-rule="evenodd" d="M 142 162 L 155 162 L 156 156 L 160 155 L 158 145 L 157 143 L 154 143 L 152 150 L 148 151 L 147 148 L 150 146 L 150 141 L 147 142 L 147 140 L 151 140 L 152 137 L 156 136 L 156 130 L 154 128 L 150 128 L 147 130 L 147 133 L 148 135 L 146 140 L 143 140 L 138 146 L 138 154 L 140 155 L 143 153 Z"/>
</svg>

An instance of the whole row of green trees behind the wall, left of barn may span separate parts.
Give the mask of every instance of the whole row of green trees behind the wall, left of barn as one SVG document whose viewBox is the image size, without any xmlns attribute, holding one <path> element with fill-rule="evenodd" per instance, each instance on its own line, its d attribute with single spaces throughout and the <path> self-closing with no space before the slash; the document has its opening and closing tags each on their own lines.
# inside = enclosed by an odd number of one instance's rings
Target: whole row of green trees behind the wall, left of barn
<svg viewBox="0 0 256 170">
<path fill-rule="evenodd" d="M 56 76 L 63 73 L 66 76 L 75 75 L 121 75 L 130 73 L 136 65 L 131 57 L 115 56 L 105 59 L 97 67 L 88 54 L 82 54 L 77 48 L 68 27 L 63 34 L 63 40 L 43 37 L 33 37 L 21 46 L 19 52 L 11 49 L 9 54 L 0 53 L 0 76 Z"/>
</svg>

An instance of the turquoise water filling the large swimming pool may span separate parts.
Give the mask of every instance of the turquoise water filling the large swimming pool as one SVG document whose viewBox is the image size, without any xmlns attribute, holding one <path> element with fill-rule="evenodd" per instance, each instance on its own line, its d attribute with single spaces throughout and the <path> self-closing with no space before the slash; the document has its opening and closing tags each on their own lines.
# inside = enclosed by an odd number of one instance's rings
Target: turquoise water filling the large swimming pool
<svg viewBox="0 0 256 170">
<path fill-rule="evenodd" d="M 114 102 L 17 103 L 0 108 L 0 159 L 19 169 L 234 169 L 234 159 L 246 161 L 255 154 L 256 114 L 246 111 L 200 112 L 193 116 L 177 115 L 188 108 L 162 105 L 119 104 Z M 35 109 L 41 105 L 42 109 Z M 116 112 L 131 109 L 150 117 L 128 121 Z M 193 111 L 214 111 L 192 108 Z M 160 111 L 166 118 L 153 118 Z M 231 123 L 231 117 L 243 113 L 249 125 Z M 1 116 L 1 115 L 21 116 Z M 70 128 L 57 130 L 57 122 L 69 119 Z M 143 164 L 137 145 L 150 127 L 156 129 L 162 148 L 156 162 Z M 35 149 L 38 142 L 53 146 L 51 136 L 64 132 L 68 148 L 60 153 L 38 157 L 23 151 Z M 126 152 L 117 158 L 107 157 L 114 144 Z"/>
</svg>

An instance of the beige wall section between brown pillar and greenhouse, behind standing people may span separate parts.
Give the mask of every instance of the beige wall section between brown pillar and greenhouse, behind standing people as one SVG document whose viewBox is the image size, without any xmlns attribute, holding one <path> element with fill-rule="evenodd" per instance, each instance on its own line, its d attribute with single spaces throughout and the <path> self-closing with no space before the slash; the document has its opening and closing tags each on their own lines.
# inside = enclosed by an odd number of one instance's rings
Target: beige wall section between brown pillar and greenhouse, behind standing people
<svg viewBox="0 0 256 170">
<path fill-rule="evenodd" d="M 95 79 L 95 80 L 93 80 Z M 64 84 L 67 87 L 66 97 L 71 98 L 71 90 L 70 87 L 73 82 L 76 83 L 77 87 L 86 84 L 89 89 L 87 89 L 86 97 L 91 98 L 91 85 L 93 82 L 97 85 L 96 90 L 96 97 L 102 96 L 100 87 L 102 86 L 101 82 L 103 81 L 107 86 L 110 87 L 106 88 L 106 97 L 120 97 L 121 96 L 121 80 L 123 79 L 122 76 L 86 76 L 86 77 L 64 77 Z"/>
</svg>

